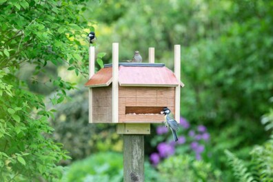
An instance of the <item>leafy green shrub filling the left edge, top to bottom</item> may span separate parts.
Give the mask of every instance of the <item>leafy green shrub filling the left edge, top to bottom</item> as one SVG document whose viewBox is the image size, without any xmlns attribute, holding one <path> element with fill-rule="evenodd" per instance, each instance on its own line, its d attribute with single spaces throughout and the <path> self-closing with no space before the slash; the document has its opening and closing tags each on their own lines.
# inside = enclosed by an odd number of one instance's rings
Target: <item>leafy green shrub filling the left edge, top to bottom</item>
<svg viewBox="0 0 273 182">
<path fill-rule="evenodd" d="M 69 159 L 60 143 L 52 140 L 48 120 L 57 105 L 69 99 L 74 83 L 52 77 L 46 68 L 65 65 L 88 76 L 87 22 L 79 5 L 85 1 L 0 1 L 0 181 L 55 181 L 62 174 L 57 166 Z M 91 27 L 92 28 L 92 27 Z M 93 28 L 94 29 L 94 28 Z M 85 43 L 87 45 L 87 43 Z M 56 90 L 49 101 L 34 94 L 18 73 L 34 67 L 29 83 L 41 82 Z M 39 80 L 43 72 L 46 77 Z M 48 138 L 45 137 L 50 136 Z"/>
</svg>

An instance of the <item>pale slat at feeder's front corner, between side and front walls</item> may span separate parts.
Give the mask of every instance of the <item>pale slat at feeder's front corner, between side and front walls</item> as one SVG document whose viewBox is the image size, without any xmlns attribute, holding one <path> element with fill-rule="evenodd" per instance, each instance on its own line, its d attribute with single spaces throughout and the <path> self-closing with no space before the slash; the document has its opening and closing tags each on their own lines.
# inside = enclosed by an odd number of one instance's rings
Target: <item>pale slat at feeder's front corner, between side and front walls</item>
<svg viewBox="0 0 273 182">
<path fill-rule="evenodd" d="M 112 45 L 112 122 L 119 122 L 119 43 Z"/>
</svg>

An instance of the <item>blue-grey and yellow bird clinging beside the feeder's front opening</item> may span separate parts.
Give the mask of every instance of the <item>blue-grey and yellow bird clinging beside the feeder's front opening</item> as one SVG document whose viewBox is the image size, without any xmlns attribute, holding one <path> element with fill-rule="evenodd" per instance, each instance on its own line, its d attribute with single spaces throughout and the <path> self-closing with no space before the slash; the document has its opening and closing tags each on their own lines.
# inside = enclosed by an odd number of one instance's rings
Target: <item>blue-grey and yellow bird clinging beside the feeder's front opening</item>
<svg viewBox="0 0 273 182">
<path fill-rule="evenodd" d="M 174 114 L 170 112 L 169 108 L 163 108 L 163 111 L 161 111 L 161 114 L 165 115 L 165 121 L 164 124 L 166 127 L 169 127 L 172 131 L 172 136 L 174 136 L 174 141 L 178 141 L 176 132 L 179 129 L 179 124 L 174 120 Z"/>
</svg>

